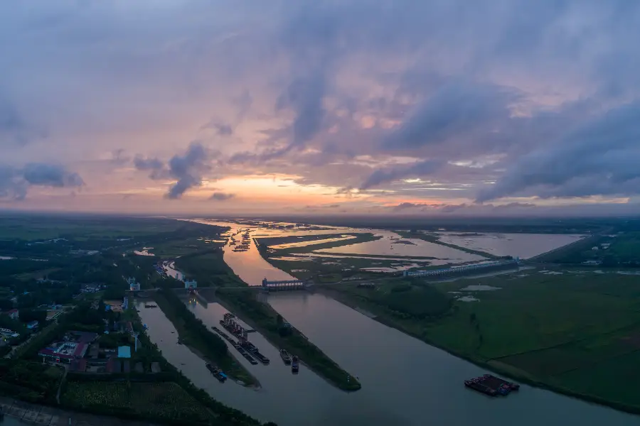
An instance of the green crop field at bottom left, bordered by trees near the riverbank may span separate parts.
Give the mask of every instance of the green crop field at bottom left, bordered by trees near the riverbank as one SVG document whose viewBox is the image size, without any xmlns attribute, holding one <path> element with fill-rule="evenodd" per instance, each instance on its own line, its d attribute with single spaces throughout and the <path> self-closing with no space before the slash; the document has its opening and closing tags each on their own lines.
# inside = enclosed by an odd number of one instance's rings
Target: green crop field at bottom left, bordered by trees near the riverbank
<svg viewBox="0 0 640 426">
<path fill-rule="evenodd" d="M 69 381 L 61 402 L 70 408 L 110 408 L 156 419 L 212 418 L 201 403 L 173 382 Z"/>
</svg>

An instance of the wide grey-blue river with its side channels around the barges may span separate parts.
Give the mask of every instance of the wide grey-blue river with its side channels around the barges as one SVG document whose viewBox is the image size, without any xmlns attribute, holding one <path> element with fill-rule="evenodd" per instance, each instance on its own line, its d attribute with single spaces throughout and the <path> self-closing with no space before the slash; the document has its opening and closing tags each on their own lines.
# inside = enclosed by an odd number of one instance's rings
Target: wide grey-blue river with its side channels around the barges
<svg viewBox="0 0 640 426">
<path fill-rule="evenodd" d="M 232 226 L 233 231 L 249 226 Z M 257 231 L 257 230 L 256 230 Z M 260 229 L 262 232 L 262 229 Z M 225 261 L 242 280 L 257 285 L 262 277 L 289 275 L 267 263 L 252 244 L 249 251 L 225 247 Z M 267 296 L 265 296 L 267 297 Z M 268 302 L 347 371 L 362 389 L 339 391 L 308 369 L 293 376 L 279 359 L 277 348 L 260 334 L 250 334 L 268 366 L 240 361 L 258 378 L 262 388 L 218 383 L 204 362 L 186 346 L 159 309 L 144 309 L 149 337 L 172 364 L 217 400 L 280 426 L 519 426 L 640 425 L 640 417 L 550 391 L 521 386 L 506 398 L 489 398 L 463 386 L 463 381 L 486 373 L 440 349 L 380 324 L 324 295 L 299 292 L 269 295 Z M 189 303 L 209 327 L 227 312 L 218 303 Z M 230 348 L 233 354 L 237 352 Z M 304 360 L 303 360 L 304 361 Z"/>
</svg>

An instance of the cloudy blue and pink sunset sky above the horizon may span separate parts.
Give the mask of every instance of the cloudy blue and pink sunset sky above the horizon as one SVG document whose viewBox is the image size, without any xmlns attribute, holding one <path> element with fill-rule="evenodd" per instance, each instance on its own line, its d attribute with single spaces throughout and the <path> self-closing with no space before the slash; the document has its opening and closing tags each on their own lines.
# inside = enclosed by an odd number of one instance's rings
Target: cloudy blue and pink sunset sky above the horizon
<svg viewBox="0 0 640 426">
<path fill-rule="evenodd" d="M 4 0 L 0 209 L 640 214 L 640 2 Z"/>
</svg>

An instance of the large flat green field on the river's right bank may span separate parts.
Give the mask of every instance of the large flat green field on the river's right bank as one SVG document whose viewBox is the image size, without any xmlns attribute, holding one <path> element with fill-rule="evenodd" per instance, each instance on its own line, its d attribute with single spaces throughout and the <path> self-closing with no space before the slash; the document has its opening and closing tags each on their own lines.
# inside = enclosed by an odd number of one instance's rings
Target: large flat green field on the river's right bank
<svg viewBox="0 0 640 426">
<path fill-rule="evenodd" d="M 564 271 L 531 272 L 429 285 L 434 300 L 460 291 L 480 302 L 452 302 L 436 315 L 411 313 L 398 285 L 344 284 L 324 290 L 451 354 L 533 386 L 640 413 L 640 288 L 637 278 Z M 466 291 L 467 285 L 499 290 Z M 417 291 L 400 291 L 410 296 Z M 411 292 L 411 293 L 410 293 Z M 426 295 L 425 295 L 426 296 Z M 400 308 L 398 307 L 400 306 Z M 435 304 L 434 308 L 438 309 Z"/>
</svg>

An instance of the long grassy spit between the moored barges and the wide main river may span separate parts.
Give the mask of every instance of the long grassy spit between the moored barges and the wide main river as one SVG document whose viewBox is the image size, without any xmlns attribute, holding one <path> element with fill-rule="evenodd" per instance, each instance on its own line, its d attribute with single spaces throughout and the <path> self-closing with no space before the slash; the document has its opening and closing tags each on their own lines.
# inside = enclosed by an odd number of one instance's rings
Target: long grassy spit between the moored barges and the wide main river
<svg viewBox="0 0 640 426">
<path fill-rule="evenodd" d="M 297 355 L 300 361 L 343 391 L 357 391 L 361 384 L 326 356 L 297 329 L 279 324 L 278 313 L 266 303 L 255 299 L 252 290 L 218 290 L 218 297 L 242 320 L 257 329 L 272 344 Z M 280 317 L 282 318 L 282 317 Z M 290 331 L 290 332 L 289 332 Z"/>
</svg>

